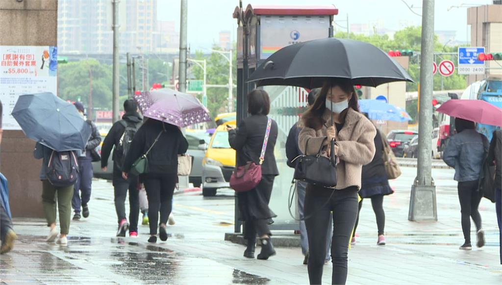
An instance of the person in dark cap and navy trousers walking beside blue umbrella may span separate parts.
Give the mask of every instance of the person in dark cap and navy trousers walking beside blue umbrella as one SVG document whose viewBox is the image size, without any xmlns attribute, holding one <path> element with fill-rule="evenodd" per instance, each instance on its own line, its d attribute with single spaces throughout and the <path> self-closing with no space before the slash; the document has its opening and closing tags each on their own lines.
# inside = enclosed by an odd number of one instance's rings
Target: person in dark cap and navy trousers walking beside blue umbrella
<svg viewBox="0 0 502 285">
<path fill-rule="evenodd" d="M 84 106 L 80 102 L 75 102 L 75 108 L 77 108 L 78 113 L 85 118 Z M 89 200 L 91 199 L 91 188 L 92 188 L 92 153 L 96 152 L 96 147 L 101 143 L 101 136 L 97 130 L 96 125 L 91 120 L 86 121 L 91 127 L 91 136 L 85 145 L 85 149 L 81 151 L 78 156 L 78 178 L 73 185 L 73 199 L 71 200 L 71 207 L 75 211 L 73 215 L 73 220 L 80 220 L 80 212 L 84 218 L 89 217 Z M 96 154 L 96 153 L 95 153 Z"/>
</svg>

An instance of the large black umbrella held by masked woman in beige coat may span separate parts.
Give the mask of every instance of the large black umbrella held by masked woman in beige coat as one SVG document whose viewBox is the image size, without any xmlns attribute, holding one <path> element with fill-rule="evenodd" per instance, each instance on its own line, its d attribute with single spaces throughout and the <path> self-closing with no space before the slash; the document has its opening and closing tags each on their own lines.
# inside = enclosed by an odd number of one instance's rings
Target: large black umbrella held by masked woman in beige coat
<svg viewBox="0 0 502 285">
<path fill-rule="evenodd" d="M 327 78 L 349 78 L 354 85 L 376 87 L 394 81 L 414 82 L 381 49 L 364 42 L 324 38 L 284 47 L 249 77 L 258 86 L 321 87 Z"/>
</svg>

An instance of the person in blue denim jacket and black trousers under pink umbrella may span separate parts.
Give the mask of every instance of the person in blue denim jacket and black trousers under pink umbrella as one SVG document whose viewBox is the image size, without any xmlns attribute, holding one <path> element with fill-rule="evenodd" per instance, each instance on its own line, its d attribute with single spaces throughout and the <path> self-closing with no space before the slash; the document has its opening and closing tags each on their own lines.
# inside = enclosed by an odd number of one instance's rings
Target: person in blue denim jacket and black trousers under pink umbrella
<svg viewBox="0 0 502 285">
<path fill-rule="evenodd" d="M 460 249 L 471 250 L 470 218 L 477 230 L 477 247 L 484 246 L 484 231 L 481 228 L 481 215 L 477 210 L 479 194 L 479 174 L 483 159 L 488 151 L 488 139 L 476 132 L 474 122 L 456 118 L 457 134 L 452 136 L 443 153 L 444 162 L 455 168 L 454 179 L 458 181 L 458 200 L 462 214 L 462 232 L 465 242 Z"/>
</svg>

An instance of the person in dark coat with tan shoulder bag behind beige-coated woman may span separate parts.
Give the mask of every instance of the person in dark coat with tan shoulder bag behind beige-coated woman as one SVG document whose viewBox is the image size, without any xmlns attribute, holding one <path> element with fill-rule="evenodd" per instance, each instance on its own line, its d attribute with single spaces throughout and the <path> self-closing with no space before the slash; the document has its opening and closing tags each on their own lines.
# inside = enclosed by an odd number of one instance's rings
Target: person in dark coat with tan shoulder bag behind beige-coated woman
<svg viewBox="0 0 502 285">
<path fill-rule="evenodd" d="M 367 114 L 366 118 L 367 118 Z M 362 166 L 361 189 L 359 190 L 359 210 L 357 212 L 357 220 L 355 221 L 354 234 L 352 236 L 352 244 L 355 244 L 355 230 L 359 223 L 359 215 L 362 208 L 364 198 L 371 199 L 371 206 L 376 217 L 376 227 L 378 228 L 378 241 L 376 244 L 385 245 L 384 229 L 385 229 L 385 212 L 384 212 L 384 196 L 393 194 L 394 191 L 389 185 L 387 172 L 385 171 L 384 160 L 382 154 L 384 152 L 384 143 L 382 134 L 377 129 L 374 138 L 375 156 L 369 164 Z"/>
</svg>

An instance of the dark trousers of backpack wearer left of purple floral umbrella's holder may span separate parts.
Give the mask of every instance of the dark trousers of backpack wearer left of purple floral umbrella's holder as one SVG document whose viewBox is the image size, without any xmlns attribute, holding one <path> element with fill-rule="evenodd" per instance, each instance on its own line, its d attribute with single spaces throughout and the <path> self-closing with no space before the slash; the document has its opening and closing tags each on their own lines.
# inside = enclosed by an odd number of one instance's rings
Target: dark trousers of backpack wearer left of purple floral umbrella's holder
<svg viewBox="0 0 502 285">
<path fill-rule="evenodd" d="M 115 196 L 115 211 L 118 224 L 126 219 L 126 197 L 129 190 L 129 232 L 138 232 L 138 216 L 140 215 L 140 200 L 138 176 L 130 176 L 128 180 L 115 178 L 113 191 Z"/>
</svg>

